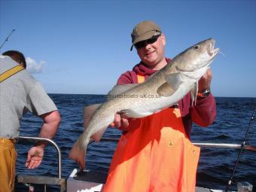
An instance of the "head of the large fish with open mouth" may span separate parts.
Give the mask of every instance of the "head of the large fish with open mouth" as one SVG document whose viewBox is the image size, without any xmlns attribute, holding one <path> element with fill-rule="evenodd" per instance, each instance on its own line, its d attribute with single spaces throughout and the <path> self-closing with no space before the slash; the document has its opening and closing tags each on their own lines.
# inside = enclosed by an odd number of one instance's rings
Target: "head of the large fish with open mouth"
<svg viewBox="0 0 256 192">
<path fill-rule="evenodd" d="M 201 41 L 175 56 L 176 69 L 183 72 L 195 72 L 208 67 L 218 52 L 219 49 L 215 48 L 215 39 L 209 38 Z"/>
</svg>

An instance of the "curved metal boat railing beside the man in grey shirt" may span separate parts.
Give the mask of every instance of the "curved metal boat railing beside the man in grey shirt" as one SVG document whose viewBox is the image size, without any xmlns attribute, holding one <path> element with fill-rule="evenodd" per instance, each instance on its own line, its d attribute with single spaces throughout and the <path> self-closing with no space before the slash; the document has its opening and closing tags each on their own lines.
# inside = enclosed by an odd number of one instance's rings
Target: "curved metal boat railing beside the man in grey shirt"
<svg viewBox="0 0 256 192">
<path fill-rule="evenodd" d="M 30 142 L 47 142 L 53 145 L 53 147 L 56 149 L 56 152 L 58 154 L 58 173 L 56 177 L 50 177 L 50 176 L 42 176 L 42 175 L 17 175 L 17 182 L 23 183 L 23 184 L 44 184 L 44 191 L 47 189 L 47 185 L 59 185 L 60 186 L 60 192 L 66 191 L 66 179 L 61 177 L 62 172 L 62 166 L 61 166 L 61 152 L 56 145 L 56 142 L 53 142 L 51 139 L 45 139 L 45 138 L 39 138 L 39 137 L 30 137 L 30 136 L 20 136 L 17 139 L 18 142 L 20 141 L 30 141 Z"/>
</svg>

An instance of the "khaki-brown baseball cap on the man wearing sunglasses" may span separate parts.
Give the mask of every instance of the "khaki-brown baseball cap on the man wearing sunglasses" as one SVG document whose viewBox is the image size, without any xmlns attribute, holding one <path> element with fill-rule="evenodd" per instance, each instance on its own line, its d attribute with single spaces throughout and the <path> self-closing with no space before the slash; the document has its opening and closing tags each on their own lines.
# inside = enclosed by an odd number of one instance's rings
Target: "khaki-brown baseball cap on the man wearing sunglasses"
<svg viewBox="0 0 256 192">
<path fill-rule="evenodd" d="M 145 20 L 141 23 L 138 23 L 134 28 L 131 34 L 133 45 L 138 43 L 139 41 L 145 41 L 151 38 L 154 35 L 161 33 L 160 27 L 157 23 L 154 23 L 151 20 Z M 130 50 L 133 50 L 133 45 Z"/>
</svg>

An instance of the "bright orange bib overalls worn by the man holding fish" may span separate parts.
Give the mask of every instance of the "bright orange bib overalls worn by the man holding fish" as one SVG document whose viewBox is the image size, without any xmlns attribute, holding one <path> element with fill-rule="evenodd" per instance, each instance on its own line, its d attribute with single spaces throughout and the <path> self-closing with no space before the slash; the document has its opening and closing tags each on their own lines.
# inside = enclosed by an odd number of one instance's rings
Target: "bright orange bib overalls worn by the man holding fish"
<svg viewBox="0 0 256 192">
<path fill-rule="evenodd" d="M 166 108 L 120 137 L 103 191 L 194 192 L 199 156 L 180 110 Z"/>
</svg>

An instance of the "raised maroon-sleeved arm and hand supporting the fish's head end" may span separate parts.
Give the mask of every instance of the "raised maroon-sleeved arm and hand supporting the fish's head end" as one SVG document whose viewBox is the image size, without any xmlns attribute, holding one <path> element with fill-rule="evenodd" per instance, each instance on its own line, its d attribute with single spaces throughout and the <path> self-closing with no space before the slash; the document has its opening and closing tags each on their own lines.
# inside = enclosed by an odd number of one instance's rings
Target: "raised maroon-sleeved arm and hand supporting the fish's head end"
<svg viewBox="0 0 256 192">
<path fill-rule="evenodd" d="M 212 81 L 212 71 L 209 69 L 198 82 L 198 92 L 203 92 L 210 88 Z M 197 97 L 196 105 L 190 107 L 191 119 L 199 126 L 209 126 L 216 117 L 216 102 L 212 93 L 206 97 Z"/>
</svg>

